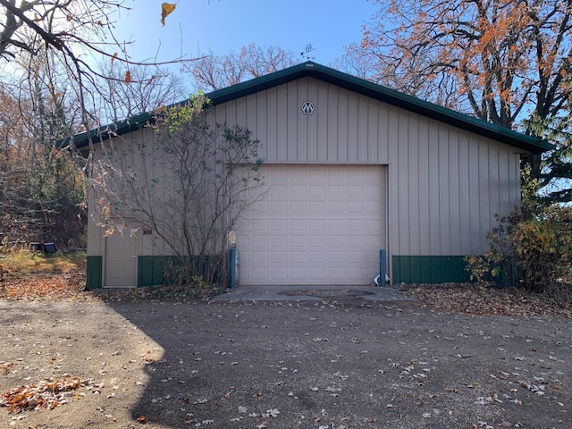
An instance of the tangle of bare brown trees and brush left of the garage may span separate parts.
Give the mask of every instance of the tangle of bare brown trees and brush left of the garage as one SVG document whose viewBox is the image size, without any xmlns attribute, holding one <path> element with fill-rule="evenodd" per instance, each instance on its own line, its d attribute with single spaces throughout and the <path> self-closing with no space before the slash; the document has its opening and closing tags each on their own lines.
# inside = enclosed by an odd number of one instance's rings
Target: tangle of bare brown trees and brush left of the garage
<svg viewBox="0 0 572 429">
<path fill-rule="evenodd" d="M 52 97 L 43 78 L 36 63 L 29 80 L 0 86 L 0 232 L 10 241 L 77 245 L 86 226 L 83 175 L 55 147 L 69 130 L 66 97 Z"/>
</svg>

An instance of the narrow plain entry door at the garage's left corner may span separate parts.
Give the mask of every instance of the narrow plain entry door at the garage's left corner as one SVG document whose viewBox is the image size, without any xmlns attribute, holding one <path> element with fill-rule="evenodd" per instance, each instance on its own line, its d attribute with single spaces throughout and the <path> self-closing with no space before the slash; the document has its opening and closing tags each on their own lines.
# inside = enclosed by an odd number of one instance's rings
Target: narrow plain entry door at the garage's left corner
<svg viewBox="0 0 572 429">
<path fill-rule="evenodd" d="M 137 286 L 137 235 L 129 231 L 114 231 L 105 237 L 106 288 L 134 288 Z"/>
</svg>

